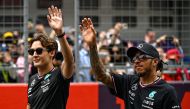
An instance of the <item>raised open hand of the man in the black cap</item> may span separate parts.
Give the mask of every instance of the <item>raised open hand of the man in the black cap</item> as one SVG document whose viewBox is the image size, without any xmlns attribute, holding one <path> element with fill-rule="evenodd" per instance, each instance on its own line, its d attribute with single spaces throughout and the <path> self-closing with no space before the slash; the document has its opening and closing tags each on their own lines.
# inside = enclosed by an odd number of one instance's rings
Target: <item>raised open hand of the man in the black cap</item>
<svg viewBox="0 0 190 109">
<path fill-rule="evenodd" d="M 82 24 L 80 25 L 80 30 L 83 36 L 84 41 L 91 45 L 96 43 L 96 31 L 93 27 L 93 23 L 90 18 L 84 18 Z"/>
</svg>

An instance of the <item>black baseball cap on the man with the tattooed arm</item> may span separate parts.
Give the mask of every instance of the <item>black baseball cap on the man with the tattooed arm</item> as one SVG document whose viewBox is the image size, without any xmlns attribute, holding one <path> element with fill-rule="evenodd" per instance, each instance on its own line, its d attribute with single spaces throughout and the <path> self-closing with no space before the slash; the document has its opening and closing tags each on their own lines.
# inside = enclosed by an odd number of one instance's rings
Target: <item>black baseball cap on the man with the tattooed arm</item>
<svg viewBox="0 0 190 109">
<path fill-rule="evenodd" d="M 141 43 L 137 47 L 130 47 L 127 50 L 127 56 L 129 57 L 130 60 L 132 60 L 138 51 L 145 53 L 149 56 L 152 56 L 154 58 L 160 59 L 159 53 L 156 50 L 156 48 L 148 43 Z"/>
</svg>

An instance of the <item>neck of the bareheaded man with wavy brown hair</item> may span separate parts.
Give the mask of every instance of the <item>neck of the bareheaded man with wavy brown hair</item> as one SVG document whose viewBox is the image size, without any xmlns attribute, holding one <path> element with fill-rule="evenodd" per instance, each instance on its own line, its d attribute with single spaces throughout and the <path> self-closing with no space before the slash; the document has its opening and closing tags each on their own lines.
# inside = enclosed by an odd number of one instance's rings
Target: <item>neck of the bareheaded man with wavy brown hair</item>
<svg viewBox="0 0 190 109">
<path fill-rule="evenodd" d="M 48 64 L 45 67 L 38 67 L 38 75 L 43 76 L 49 73 L 54 68 L 53 64 Z"/>
</svg>

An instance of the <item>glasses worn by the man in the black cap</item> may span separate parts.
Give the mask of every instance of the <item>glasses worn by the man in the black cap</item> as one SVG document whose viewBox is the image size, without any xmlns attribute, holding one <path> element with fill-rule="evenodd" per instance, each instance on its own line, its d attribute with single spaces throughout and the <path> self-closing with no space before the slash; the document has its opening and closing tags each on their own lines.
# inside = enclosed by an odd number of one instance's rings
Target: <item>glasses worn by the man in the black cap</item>
<svg viewBox="0 0 190 109">
<path fill-rule="evenodd" d="M 146 54 L 137 55 L 133 57 L 133 59 L 131 60 L 131 63 L 134 63 L 136 60 L 144 61 L 146 59 L 154 59 L 154 57 L 146 55 Z"/>
</svg>

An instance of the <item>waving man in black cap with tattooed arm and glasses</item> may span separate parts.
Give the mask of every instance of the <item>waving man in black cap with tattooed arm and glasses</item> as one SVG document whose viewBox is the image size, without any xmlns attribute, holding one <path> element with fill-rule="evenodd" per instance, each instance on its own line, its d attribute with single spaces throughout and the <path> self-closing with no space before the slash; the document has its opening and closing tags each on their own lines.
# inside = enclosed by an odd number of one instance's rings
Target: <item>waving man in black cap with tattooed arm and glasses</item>
<svg viewBox="0 0 190 109">
<path fill-rule="evenodd" d="M 174 87 L 161 79 L 163 62 L 158 51 L 150 44 L 131 47 L 127 55 L 136 75 L 107 73 L 99 59 L 96 46 L 96 31 L 90 18 L 80 25 L 84 41 L 90 48 L 92 70 L 97 80 L 108 86 L 113 95 L 125 102 L 126 109 L 180 109 Z"/>
</svg>

